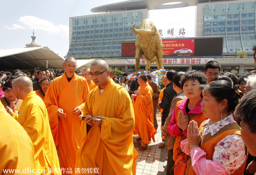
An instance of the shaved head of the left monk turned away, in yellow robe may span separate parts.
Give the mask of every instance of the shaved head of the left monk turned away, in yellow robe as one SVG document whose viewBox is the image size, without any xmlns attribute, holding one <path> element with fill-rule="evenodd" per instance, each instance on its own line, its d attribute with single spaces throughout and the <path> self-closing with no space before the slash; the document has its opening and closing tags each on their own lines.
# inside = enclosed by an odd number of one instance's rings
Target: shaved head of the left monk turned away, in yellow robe
<svg viewBox="0 0 256 175">
<path fill-rule="evenodd" d="M 18 99 L 24 99 L 25 96 L 33 91 L 32 81 L 26 77 L 18 77 L 12 83 L 12 91 Z"/>
</svg>

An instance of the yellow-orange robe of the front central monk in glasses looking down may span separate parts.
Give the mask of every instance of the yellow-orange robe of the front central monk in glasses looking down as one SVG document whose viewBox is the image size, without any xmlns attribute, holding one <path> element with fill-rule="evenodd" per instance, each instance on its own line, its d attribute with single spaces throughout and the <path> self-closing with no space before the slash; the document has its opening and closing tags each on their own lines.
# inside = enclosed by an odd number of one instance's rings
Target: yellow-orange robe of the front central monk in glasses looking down
<svg viewBox="0 0 256 175">
<path fill-rule="evenodd" d="M 105 120 L 101 128 L 92 125 L 87 135 L 86 122 L 82 121 L 76 168 L 99 168 L 100 175 L 135 174 L 139 155 L 133 147 L 134 112 L 128 92 L 110 79 L 101 94 L 99 86 L 88 94 L 84 110 L 85 115 Z"/>
</svg>

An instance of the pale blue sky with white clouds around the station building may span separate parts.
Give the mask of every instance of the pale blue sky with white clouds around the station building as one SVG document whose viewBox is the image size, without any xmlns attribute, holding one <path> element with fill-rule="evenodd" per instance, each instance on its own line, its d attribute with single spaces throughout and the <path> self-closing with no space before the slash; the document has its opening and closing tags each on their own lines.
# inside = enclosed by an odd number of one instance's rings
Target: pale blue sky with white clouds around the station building
<svg viewBox="0 0 256 175">
<path fill-rule="evenodd" d="M 33 28 L 36 44 L 48 46 L 60 56 L 68 52 L 69 17 L 93 14 L 91 9 L 122 0 L 44 0 L 0 1 L 0 49 L 21 48 L 31 43 Z M 107 2 L 107 3 L 106 3 Z M 196 7 L 151 10 L 150 19 L 157 29 L 173 28 L 174 36 L 179 28 L 185 29 L 186 37 L 194 37 Z"/>
</svg>

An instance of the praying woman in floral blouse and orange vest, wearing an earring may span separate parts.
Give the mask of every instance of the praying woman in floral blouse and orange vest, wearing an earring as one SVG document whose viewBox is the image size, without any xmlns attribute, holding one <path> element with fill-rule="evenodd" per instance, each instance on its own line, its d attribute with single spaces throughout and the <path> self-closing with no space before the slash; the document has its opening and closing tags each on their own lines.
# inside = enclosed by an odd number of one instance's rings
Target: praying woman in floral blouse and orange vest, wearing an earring
<svg viewBox="0 0 256 175">
<path fill-rule="evenodd" d="M 244 174 L 246 148 L 241 128 L 230 113 L 238 104 L 238 98 L 225 80 L 213 81 L 204 87 L 201 106 L 208 120 L 199 128 L 196 121 L 190 121 L 188 138 L 180 143 L 182 151 L 191 156 L 192 166 L 188 167 L 187 174 Z"/>
</svg>

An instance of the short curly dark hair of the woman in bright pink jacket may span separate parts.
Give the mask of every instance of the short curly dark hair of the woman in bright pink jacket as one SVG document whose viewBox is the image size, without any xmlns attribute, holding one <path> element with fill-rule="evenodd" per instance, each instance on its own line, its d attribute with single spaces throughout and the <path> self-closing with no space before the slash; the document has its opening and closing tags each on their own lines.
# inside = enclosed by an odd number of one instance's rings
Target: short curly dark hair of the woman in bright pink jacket
<svg viewBox="0 0 256 175">
<path fill-rule="evenodd" d="M 180 86 L 183 88 L 183 85 L 188 80 L 198 80 L 200 84 L 207 84 L 207 77 L 203 74 L 203 72 L 199 72 L 196 70 L 189 70 L 187 71 L 181 78 L 180 78 Z"/>
</svg>

